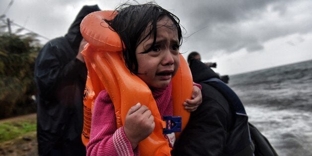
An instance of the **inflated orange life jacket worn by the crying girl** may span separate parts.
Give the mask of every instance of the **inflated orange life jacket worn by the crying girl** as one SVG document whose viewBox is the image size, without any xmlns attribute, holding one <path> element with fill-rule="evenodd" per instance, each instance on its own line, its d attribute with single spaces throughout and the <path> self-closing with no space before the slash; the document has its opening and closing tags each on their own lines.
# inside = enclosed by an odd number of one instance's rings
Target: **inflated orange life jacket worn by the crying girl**
<svg viewBox="0 0 312 156">
<path fill-rule="evenodd" d="M 88 77 L 84 91 L 84 124 L 82 142 L 88 143 L 93 103 L 101 90 L 106 89 L 115 108 L 116 124 L 125 123 L 128 110 L 138 102 L 151 110 L 155 119 L 153 133 L 139 143 L 142 156 L 170 156 L 171 148 L 162 134 L 165 123 L 161 120 L 152 92 L 147 84 L 132 75 L 125 66 L 122 55 L 122 42 L 119 35 L 112 31 L 103 19 L 113 19 L 117 12 L 96 11 L 88 14 L 80 24 L 83 38 L 88 42 L 81 52 Z M 185 59 L 180 55 L 180 67 L 172 78 L 173 115 L 182 117 L 182 130 L 189 119 L 182 103 L 190 99 L 193 90 L 193 79 Z M 178 138 L 179 133 L 176 133 Z"/>
</svg>

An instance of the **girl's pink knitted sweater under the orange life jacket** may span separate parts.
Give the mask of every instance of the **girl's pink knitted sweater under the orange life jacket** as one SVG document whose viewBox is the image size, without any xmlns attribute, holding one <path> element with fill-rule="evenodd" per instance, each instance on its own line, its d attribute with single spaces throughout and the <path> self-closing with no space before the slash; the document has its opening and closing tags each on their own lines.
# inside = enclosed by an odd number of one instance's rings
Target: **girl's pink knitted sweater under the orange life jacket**
<svg viewBox="0 0 312 156">
<path fill-rule="evenodd" d="M 160 116 L 172 116 L 172 83 L 165 89 L 152 90 Z M 136 104 L 136 103 L 135 103 Z M 175 138 L 169 135 L 168 142 Z M 114 105 L 106 90 L 101 91 L 94 103 L 90 140 L 87 144 L 87 156 L 139 156 L 139 146 L 132 150 L 125 135 L 124 127 L 117 129 Z"/>
</svg>

